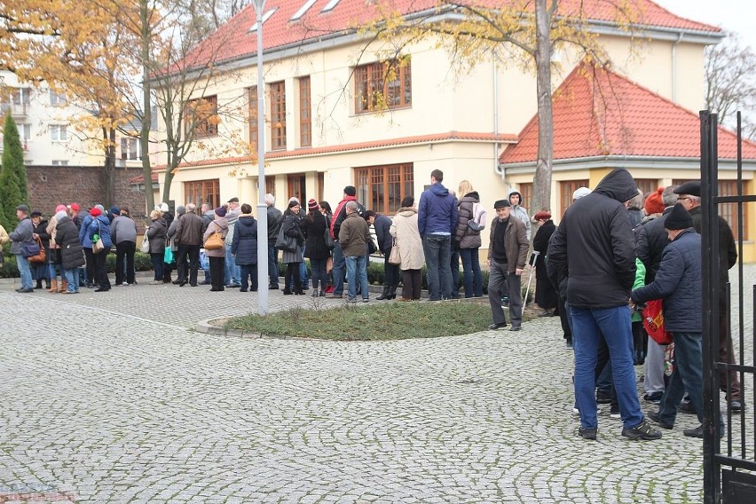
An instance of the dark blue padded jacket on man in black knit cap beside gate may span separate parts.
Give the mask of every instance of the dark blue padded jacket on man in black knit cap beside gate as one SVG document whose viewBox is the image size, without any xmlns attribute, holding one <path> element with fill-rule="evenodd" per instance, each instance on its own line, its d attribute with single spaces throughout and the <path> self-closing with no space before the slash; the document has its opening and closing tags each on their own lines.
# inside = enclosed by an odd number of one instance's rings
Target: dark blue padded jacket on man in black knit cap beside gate
<svg viewBox="0 0 756 504">
<path fill-rule="evenodd" d="M 633 301 L 644 303 L 662 299 L 665 328 L 670 333 L 700 333 L 701 236 L 685 230 L 664 249 L 657 277 L 633 291 Z"/>
</svg>

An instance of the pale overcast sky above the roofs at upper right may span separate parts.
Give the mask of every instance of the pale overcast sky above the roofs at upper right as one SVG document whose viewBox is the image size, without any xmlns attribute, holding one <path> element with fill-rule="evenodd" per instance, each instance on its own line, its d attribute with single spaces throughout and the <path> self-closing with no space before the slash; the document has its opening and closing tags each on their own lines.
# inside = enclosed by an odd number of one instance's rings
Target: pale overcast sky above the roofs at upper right
<svg viewBox="0 0 756 504">
<path fill-rule="evenodd" d="M 753 0 L 654 0 L 683 18 L 718 26 L 740 35 L 756 50 L 756 2 Z"/>
</svg>

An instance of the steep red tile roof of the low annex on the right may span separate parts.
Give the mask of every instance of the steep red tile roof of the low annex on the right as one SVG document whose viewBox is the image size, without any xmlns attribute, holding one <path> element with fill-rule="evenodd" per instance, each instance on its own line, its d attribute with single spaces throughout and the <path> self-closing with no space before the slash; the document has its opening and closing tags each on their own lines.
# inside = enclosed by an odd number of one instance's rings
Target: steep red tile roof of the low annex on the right
<svg viewBox="0 0 756 504">
<path fill-rule="evenodd" d="M 555 91 L 554 159 L 594 156 L 699 157 L 698 114 L 622 75 L 576 67 Z M 502 163 L 537 159 L 538 115 L 524 127 Z M 736 158 L 736 135 L 719 129 L 719 156 Z M 756 144 L 744 140 L 743 158 L 756 159 Z"/>
</svg>

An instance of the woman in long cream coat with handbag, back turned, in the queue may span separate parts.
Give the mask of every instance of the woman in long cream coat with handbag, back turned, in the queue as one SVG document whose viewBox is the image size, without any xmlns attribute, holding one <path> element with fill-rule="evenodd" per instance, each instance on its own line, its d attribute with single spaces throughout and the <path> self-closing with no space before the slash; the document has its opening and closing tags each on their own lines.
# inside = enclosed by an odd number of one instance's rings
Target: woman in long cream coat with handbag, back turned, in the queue
<svg viewBox="0 0 756 504">
<path fill-rule="evenodd" d="M 402 297 L 399 301 L 417 301 L 422 291 L 425 253 L 417 227 L 417 209 L 414 208 L 413 196 L 406 196 L 402 200 L 402 208 L 394 216 L 389 232 L 397 240 L 402 259 L 399 266 L 402 270 Z"/>
</svg>

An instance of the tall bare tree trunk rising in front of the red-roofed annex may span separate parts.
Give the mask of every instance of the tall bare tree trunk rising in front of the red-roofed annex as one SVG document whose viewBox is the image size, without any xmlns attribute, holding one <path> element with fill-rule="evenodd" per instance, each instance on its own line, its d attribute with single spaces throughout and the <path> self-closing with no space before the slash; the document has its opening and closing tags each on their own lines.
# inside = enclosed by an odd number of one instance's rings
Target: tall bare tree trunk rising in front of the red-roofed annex
<svg viewBox="0 0 756 504">
<path fill-rule="evenodd" d="M 538 93 L 538 160 L 533 177 L 531 213 L 550 209 L 551 167 L 554 161 L 554 117 L 551 103 L 551 40 L 549 26 L 553 11 L 547 0 L 536 0 L 536 90 Z M 550 13 L 552 12 L 552 13 Z"/>
</svg>

